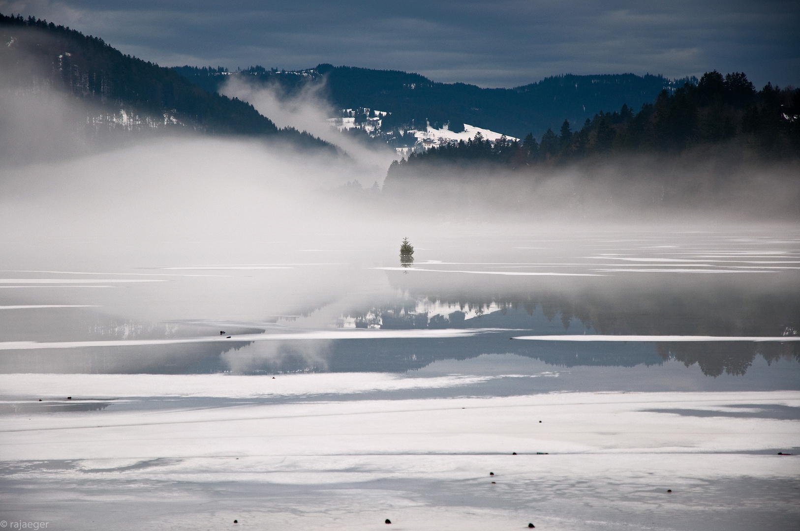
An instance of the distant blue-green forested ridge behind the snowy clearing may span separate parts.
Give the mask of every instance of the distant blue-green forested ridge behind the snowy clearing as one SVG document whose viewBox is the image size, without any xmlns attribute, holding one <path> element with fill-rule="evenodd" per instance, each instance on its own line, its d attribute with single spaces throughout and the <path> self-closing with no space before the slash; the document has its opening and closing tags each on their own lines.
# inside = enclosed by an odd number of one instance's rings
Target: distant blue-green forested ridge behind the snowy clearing
<svg viewBox="0 0 800 531">
<path fill-rule="evenodd" d="M 215 91 L 230 76 L 226 69 L 176 67 L 194 84 Z M 421 129 L 426 121 L 441 128 L 463 130 L 464 123 L 513 137 L 533 131 L 540 136 L 556 128 L 564 118 L 582 123 L 604 110 L 619 109 L 623 103 L 638 109 L 652 102 L 665 88 L 674 90 L 683 82 L 662 76 L 634 74 L 562 75 L 514 89 L 482 89 L 465 83 L 438 83 L 398 70 L 370 70 L 350 66 L 318 65 L 298 71 L 266 70 L 254 66 L 238 70 L 256 82 L 277 83 L 288 94 L 310 82 L 322 82 L 330 103 L 337 109 L 366 107 L 391 113 L 382 130 L 395 127 Z"/>
</svg>

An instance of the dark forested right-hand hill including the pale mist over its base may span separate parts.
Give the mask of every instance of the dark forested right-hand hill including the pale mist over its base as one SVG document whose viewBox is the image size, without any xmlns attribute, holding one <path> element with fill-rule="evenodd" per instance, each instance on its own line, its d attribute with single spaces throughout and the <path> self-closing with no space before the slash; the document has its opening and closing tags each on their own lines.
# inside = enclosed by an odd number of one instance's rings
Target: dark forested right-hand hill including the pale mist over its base
<svg viewBox="0 0 800 531">
<path fill-rule="evenodd" d="M 638 113 L 565 120 L 540 142 L 476 134 L 412 153 L 391 164 L 382 194 L 420 212 L 797 222 L 798 169 L 800 89 L 755 90 L 745 74 L 712 71 Z"/>
</svg>

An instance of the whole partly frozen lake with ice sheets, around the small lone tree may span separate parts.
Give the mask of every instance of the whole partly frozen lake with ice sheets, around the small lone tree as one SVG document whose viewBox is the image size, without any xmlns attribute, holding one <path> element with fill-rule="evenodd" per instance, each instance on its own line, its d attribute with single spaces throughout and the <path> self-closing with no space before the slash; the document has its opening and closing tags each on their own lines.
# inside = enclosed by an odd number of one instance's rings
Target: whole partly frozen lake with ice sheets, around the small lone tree
<svg viewBox="0 0 800 531">
<path fill-rule="evenodd" d="M 800 231 L 437 227 L 18 247 L 0 516 L 800 529 Z"/>
</svg>

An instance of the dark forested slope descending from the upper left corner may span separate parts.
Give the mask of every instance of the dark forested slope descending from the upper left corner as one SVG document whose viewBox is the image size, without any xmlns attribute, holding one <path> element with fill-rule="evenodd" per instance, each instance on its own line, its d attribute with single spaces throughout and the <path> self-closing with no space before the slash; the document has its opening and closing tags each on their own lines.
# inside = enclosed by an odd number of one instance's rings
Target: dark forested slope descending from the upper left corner
<svg viewBox="0 0 800 531">
<path fill-rule="evenodd" d="M 95 109 L 109 111 L 106 126 L 141 115 L 145 127 L 189 127 L 209 134 L 265 135 L 302 146 L 334 150 L 294 129 L 278 129 L 250 104 L 209 93 L 186 78 L 151 62 L 122 54 L 101 38 L 32 17 L 0 14 L 0 89 L 71 94 Z M 101 120 L 87 117 L 89 122 Z M 101 120 L 102 121 L 102 120 Z"/>
</svg>

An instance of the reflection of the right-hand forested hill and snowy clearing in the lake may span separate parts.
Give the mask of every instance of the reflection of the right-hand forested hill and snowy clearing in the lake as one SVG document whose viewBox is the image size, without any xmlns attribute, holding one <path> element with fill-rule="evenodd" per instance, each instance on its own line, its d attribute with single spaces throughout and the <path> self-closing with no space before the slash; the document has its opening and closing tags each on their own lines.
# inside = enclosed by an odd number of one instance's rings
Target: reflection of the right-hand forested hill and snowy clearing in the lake
<svg viewBox="0 0 800 531">
<path fill-rule="evenodd" d="M 408 298 L 364 313 L 372 317 L 373 325 L 380 323 L 382 328 L 506 328 L 542 334 L 770 337 L 796 336 L 800 331 L 800 289 L 796 283 L 786 283 L 785 279 L 781 282 L 750 281 L 744 285 L 727 279 L 631 281 L 629 278 L 620 281 L 606 278 L 570 279 L 569 284 L 538 280 L 521 286 L 519 279 L 513 282 L 482 279 L 442 285 L 441 277 L 390 275 L 390 281 L 407 293 Z M 674 358 L 686 366 L 697 363 L 709 376 L 744 374 L 756 356 L 762 356 L 768 363 L 780 358 L 800 361 L 798 342 L 574 345 L 552 341 L 514 345 L 502 352 L 568 366 L 652 364 Z"/>
</svg>

